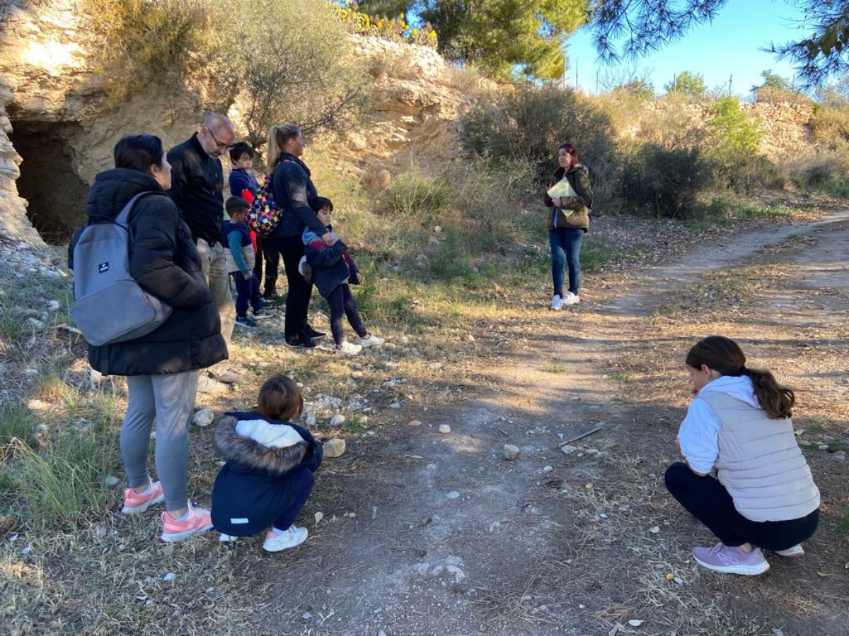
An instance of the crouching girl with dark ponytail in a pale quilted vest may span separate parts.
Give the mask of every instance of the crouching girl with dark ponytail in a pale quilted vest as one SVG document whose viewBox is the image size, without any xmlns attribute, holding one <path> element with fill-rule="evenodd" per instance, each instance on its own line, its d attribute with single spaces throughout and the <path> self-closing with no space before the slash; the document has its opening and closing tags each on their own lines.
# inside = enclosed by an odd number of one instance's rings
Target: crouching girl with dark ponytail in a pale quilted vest
<svg viewBox="0 0 849 636">
<path fill-rule="evenodd" d="M 695 560 L 756 575 L 769 569 L 761 550 L 804 555 L 819 491 L 793 434 L 793 392 L 769 371 L 747 368 L 737 343 L 722 336 L 696 343 L 686 362 L 695 398 L 678 429 L 684 461 L 666 470 L 666 488 L 720 540 L 695 548 Z"/>
</svg>

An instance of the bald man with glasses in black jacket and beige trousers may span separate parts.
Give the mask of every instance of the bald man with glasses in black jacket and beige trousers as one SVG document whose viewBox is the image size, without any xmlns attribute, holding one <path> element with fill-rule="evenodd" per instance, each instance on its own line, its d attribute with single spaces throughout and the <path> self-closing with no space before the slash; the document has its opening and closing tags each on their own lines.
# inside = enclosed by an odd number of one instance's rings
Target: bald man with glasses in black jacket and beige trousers
<svg viewBox="0 0 849 636">
<path fill-rule="evenodd" d="M 177 204 L 192 231 L 201 270 L 221 315 L 221 333 L 228 345 L 233 335 L 236 309 L 230 294 L 227 248 L 221 242 L 224 176 L 219 158 L 233 148 L 235 141 L 233 122 L 225 115 L 210 113 L 205 116 L 200 131 L 168 152 L 171 164 L 168 196 Z M 224 383 L 238 379 L 228 370 L 226 361 L 208 371 L 211 377 L 200 378 L 198 390 L 201 393 L 222 393 L 226 390 Z"/>
</svg>

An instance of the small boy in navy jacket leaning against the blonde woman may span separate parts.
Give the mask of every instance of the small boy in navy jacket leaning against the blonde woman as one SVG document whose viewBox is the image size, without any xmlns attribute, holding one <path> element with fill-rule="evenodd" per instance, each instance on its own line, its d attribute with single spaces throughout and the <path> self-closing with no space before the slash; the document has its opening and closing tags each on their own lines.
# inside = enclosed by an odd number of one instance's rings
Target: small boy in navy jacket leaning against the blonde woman
<svg viewBox="0 0 849 636">
<path fill-rule="evenodd" d="M 347 237 L 337 237 L 333 232 L 331 220 L 333 217 L 333 202 L 329 198 L 317 197 L 312 201 L 320 220 L 336 239 L 328 246 L 321 237 L 312 232 L 309 227 L 304 229 L 301 239 L 304 242 L 306 263 L 312 269 L 312 282 L 318 287 L 318 293 L 330 305 L 330 330 L 336 344 L 336 353 L 340 355 L 356 355 L 363 347 L 376 347 L 385 342 L 384 338 L 373 336 L 368 332 L 357 308 L 357 301 L 351 295 L 351 285 L 359 285 L 363 281 L 357 265 L 348 253 L 351 241 Z M 348 342 L 342 333 L 342 315 L 348 318 L 348 324 L 360 337 L 358 344 Z"/>
</svg>

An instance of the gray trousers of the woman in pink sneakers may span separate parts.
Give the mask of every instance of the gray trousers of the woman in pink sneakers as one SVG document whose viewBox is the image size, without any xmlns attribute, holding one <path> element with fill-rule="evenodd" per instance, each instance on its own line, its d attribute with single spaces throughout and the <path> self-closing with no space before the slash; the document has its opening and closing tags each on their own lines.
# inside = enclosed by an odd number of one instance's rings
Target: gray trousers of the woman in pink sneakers
<svg viewBox="0 0 849 636">
<path fill-rule="evenodd" d="M 156 421 L 156 474 L 166 510 L 188 502 L 188 421 L 198 392 L 199 371 L 127 377 L 130 397 L 121 425 L 121 457 L 130 488 L 148 483 L 150 429 Z"/>
</svg>

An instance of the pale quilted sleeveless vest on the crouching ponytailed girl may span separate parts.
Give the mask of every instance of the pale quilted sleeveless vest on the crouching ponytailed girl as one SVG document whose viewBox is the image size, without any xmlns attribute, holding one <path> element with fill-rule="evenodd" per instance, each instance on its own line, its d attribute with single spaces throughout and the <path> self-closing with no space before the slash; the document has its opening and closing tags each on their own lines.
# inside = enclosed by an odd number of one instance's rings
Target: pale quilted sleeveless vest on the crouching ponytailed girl
<svg viewBox="0 0 849 636">
<path fill-rule="evenodd" d="M 766 411 L 725 393 L 701 393 L 722 424 L 717 477 L 737 511 L 753 522 L 784 522 L 819 507 L 793 421 L 771 420 Z"/>
</svg>

